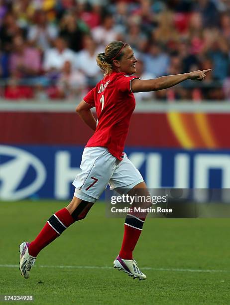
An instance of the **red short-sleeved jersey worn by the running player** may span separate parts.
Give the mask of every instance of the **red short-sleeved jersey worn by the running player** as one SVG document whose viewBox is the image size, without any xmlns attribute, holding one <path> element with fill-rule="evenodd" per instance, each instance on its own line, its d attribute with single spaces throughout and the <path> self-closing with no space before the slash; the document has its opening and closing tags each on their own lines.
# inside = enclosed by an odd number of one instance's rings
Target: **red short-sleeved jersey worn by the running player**
<svg viewBox="0 0 230 305">
<path fill-rule="evenodd" d="M 135 109 L 131 80 L 136 76 L 113 72 L 101 80 L 84 101 L 96 108 L 98 122 L 86 147 L 107 147 L 117 159 L 122 159 L 130 117 Z"/>
</svg>

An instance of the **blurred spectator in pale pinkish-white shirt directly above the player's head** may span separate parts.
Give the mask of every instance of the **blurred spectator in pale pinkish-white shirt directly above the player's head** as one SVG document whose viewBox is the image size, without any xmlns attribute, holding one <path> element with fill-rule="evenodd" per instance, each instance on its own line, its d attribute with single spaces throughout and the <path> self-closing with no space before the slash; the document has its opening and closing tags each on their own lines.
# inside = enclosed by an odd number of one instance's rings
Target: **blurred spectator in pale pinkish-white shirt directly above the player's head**
<svg viewBox="0 0 230 305">
<path fill-rule="evenodd" d="M 102 46 L 105 46 L 111 41 L 116 40 L 118 31 L 115 28 L 113 15 L 106 14 L 103 18 L 102 25 L 92 29 L 92 35 L 94 40 Z"/>
</svg>

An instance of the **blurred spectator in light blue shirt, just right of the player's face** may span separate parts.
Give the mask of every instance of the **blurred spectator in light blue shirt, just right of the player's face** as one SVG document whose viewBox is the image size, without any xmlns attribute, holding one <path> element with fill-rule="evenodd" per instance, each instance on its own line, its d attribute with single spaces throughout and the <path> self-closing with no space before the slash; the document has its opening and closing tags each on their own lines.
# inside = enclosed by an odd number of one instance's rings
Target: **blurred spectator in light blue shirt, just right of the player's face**
<svg viewBox="0 0 230 305">
<path fill-rule="evenodd" d="M 160 45 L 152 43 L 147 54 L 143 54 L 145 71 L 153 73 L 156 77 L 165 75 L 169 67 L 169 55 Z"/>
</svg>

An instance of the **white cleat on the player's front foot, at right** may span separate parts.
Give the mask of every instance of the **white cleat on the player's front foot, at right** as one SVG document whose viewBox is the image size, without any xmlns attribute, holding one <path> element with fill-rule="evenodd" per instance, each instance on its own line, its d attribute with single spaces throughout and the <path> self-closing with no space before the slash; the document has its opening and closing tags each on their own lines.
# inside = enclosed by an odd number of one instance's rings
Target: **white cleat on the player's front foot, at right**
<svg viewBox="0 0 230 305">
<path fill-rule="evenodd" d="M 146 275 L 143 274 L 137 267 L 137 263 L 134 260 L 123 260 L 119 255 L 115 258 L 114 268 L 117 268 L 119 271 L 127 273 L 128 276 L 132 277 L 133 280 L 138 278 L 139 280 L 145 280 Z"/>
</svg>

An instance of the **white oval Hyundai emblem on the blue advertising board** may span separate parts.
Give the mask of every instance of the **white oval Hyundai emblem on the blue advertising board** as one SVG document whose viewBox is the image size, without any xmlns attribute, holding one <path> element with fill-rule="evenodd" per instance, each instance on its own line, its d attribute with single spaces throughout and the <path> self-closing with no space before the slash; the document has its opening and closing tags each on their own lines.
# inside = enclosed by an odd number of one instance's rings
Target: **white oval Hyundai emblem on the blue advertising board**
<svg viewBox="0 0 230 305">
<path fill-rule="evenodd" d="M 9 160 L 1 162 L 3 156 Z M 25 175 L 32 167 L 35 177 L 29 185 L 19 188 Z M 43 163 L 29 152 L 21 149 L 0 145 L 0 199 L 19 200 L 34 194 L 41 188 L 46 179 L 46 170 Z"/>
</svg>

